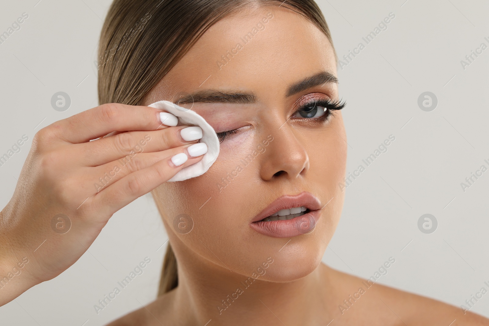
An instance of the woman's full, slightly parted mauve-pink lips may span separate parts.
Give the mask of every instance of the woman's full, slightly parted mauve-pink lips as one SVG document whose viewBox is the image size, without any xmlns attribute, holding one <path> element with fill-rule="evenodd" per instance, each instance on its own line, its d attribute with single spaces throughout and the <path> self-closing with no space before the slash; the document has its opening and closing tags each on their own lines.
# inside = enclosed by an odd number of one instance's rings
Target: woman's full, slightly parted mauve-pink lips
<svg viewBox="0 0 489 326">
<path fill-rule="evenodd" d="M 301 214 L 288 219 L 268 220 L 267 217 L 282 215 L 288 209 L 305 208 Z M 294 209 L 295 208 L 295 209 Z M 274 238 L 289 238 L 306 234 L 312 231 L 320 216 L 321 202 L 317 197 L 309 192 L 302 192 L 299 195 L 284 195 L 274 200 L 260 214 L 253 218 L 250 227 L 263 235 Z M 263 219 L 267 218 L 267 221 Z"/>
</svg>

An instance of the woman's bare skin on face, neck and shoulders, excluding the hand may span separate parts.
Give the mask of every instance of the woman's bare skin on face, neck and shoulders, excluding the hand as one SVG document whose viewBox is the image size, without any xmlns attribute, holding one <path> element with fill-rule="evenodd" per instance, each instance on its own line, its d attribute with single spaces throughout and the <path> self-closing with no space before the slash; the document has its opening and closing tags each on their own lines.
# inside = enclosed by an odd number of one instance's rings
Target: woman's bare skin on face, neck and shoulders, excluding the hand
<svg viewBox="0 0 489 326">
<path fill-rule="evenodd" d="M 243 44 L 240 38 L 268 12 L 273 18 L 266 28 Z M 243 49 L 219 67 L 216 61 L 238 42 Z M 321 70 L 336 76 L 327 37 L 289 9 L 258 7 L 213 25 L 146 96 L 148 105 L 218 89 L 252 92 L 257 101 L 188 105 L 216 132 L 239 129 L 223 140 L 218 160 L 207 173 L 162 184 L 153 192 L 162 199 L 156 204 L 177 257 L 178 287 L 110 326 L 489 325 L 479 315 L 378 284 L 340 312 L 343 300 L 364 286 L 363 280 L 321 262 L 343 205 L 338 187 L 346 165 L 343 121 L 340 111 L 322 124 L 299 119 L 294 113 L 307 98 L 337 99 L 338 87 L 329 82 L 286 94 L 290 84 Z M 269 134 L 273 141 L 244 166 L 242 158 Z M 223 183 L 222 178 L 236 171 L 237 165 L 243 170 Z M 275 198 L 302 191 L 327 204 L 311 233 L 279 239 L 249 227 Z M 181 234 L 173 227 L 179 214 L 193 217 L 190 233 Z M 242 282 L 268 257 L 273 263 L 266 273 L 245 288 Z M 238 287 L 244 293 L 227 301 Z M 221 310 L 222 300 L 229 304 L 225 310 Z"/>
</svg>

